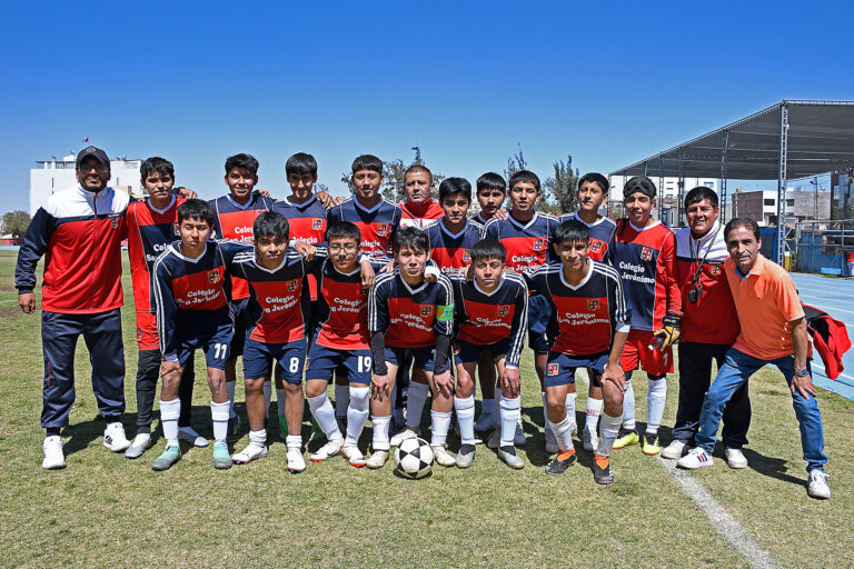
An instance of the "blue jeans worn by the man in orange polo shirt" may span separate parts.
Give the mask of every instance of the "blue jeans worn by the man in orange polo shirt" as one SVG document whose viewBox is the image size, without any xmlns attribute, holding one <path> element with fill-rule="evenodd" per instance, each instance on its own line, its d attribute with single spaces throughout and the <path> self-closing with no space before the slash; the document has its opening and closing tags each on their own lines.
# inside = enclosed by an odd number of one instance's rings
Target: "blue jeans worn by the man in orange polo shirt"
<svg viewBox="0 0 854 569">
<path fill-rule="evenodd" d="M 703 401 L 699 431 L 695 437 L 697 447 L 704 448 L 709 455 L 712 453 L 715 448 L 717 427 L 721 425 L 721 417 L 724 415 L 724 407 L 726 407 L 727 401 L 756 370 L 766 363 L 776 366 L 785 376 L 786 383 L 792 385 L 792 376 L 795 372 L 794 356 L 775 360 L 761 360 L 735 348 L 727 350 L 724 365 L 718 370 L 717 377 Z M 810 369 L 808 361 L 806 367 Z M 816 468 L 824 470 L 827 457 L 824 453 L 824 430 L 822 428 L 822 415 L 818 412 L 818 402 L 814 397 L 805 399 L 800 391 L 795 390 L 792 396 L 792 407 L 795 408 L 795 417 L 797 417 L 797 422 L 801 426 L 801 448 L 804 451 L 804 460 L 807 462 L 806 470 Z"/>
</svg>

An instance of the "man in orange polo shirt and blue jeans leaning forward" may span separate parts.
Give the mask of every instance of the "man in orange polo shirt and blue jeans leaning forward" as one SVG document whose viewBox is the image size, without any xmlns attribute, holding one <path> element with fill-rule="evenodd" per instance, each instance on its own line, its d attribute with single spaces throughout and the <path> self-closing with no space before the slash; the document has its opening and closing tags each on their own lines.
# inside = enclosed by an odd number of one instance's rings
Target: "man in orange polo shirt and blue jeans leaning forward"
<svg viewBox="0 0 854 569">
<path fill-rule="evenodd" d="M 703 401 L 695 437 L 697 447 L 677 465 L 688 469 L 712 466 L 715 436 L 726 402 L 756 370 L 772 363 L 783 372 L 792 390 L 810 475 L 806 491 L 813 498 L 830 498 L 822 416 L 810 378 L 806 319 L 795 284 L 782 267 L 759 253 L 762 239 L 754 220 L 733 219 L 724 228 L 724 237 L 729 252 L 724 271 L 742 331 L 726 352 L 726 361 Z"/>
</svg>

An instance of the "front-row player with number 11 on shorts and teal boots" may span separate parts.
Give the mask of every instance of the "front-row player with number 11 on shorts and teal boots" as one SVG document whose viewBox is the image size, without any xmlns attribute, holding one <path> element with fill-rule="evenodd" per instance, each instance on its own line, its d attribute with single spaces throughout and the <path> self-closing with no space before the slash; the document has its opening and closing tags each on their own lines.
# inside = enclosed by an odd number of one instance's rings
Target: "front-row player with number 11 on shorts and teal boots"
<svg viewBox="0 0 854 569">
<path fill-rule="evenodd" d="M 210 387 L 210 416 L 214 421 L 214 467 L 231 468 L 226 432 L 228 390 L 226 362 L 235 332 L 228 308 L 230 281 L 226 267 L 251 249 L 232 242 L 209 240 L 214 210 L 202 200 L 187 200 L 178 208 L 181 240 L 170 244 L 153 267 L 157 331 L 162 363 L 160 376 L 160 422 L 166 449 L 151 468 L 166 470 L 181 458 L 178 446 L 178 397 L 181 371 L 196 349 L 205 352 Z"/>
</svg>

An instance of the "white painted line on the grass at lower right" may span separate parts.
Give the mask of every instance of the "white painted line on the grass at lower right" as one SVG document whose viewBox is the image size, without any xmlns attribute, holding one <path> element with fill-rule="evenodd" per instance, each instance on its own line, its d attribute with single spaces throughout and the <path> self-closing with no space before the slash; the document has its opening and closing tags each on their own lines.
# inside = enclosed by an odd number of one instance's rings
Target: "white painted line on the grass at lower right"
<svg viewBox="0 0 854 569">
<path fill-rule="evenodd" d="M 658 461 L 673 475 L 677 482 L 682 486 L 688 497 L 691 497 L 697 506 L 699 506 L 705 512 L 708 520 L 715 527 L 715 529 L 724 536 L 742 556 L 751 563 L 751 567 L 757 569 L 782 569 L 782 566 L 759 546 L 753 536 L 738 523 L 719 503 L 715 500 L 708 490 L 703 485 L 694 480 L 687 471 L 676 468 L 675 460 L 665 460 L 661 457 L 656 457 Z"/>
</svg>

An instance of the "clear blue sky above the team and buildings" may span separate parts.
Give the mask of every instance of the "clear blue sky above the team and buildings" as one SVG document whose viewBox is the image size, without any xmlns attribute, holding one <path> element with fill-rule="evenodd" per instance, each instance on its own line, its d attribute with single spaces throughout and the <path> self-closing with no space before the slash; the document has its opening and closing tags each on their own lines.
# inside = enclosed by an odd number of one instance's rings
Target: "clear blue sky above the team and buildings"
<svg viewBox="0 0 854 569">
<path fill-rule="evenodd" d="M 567 154 L 607 172 L 784 98 L 854 98 L 841 2 L 304 4 L 6 7 L 0 212 L 83 137 L 207 198 L 236 152 L 284 197 L 307 151 L 342 194 L 365 152 L 419 146 L 474 181 L 522 144 L 543 178 Z"/>
</svg>

